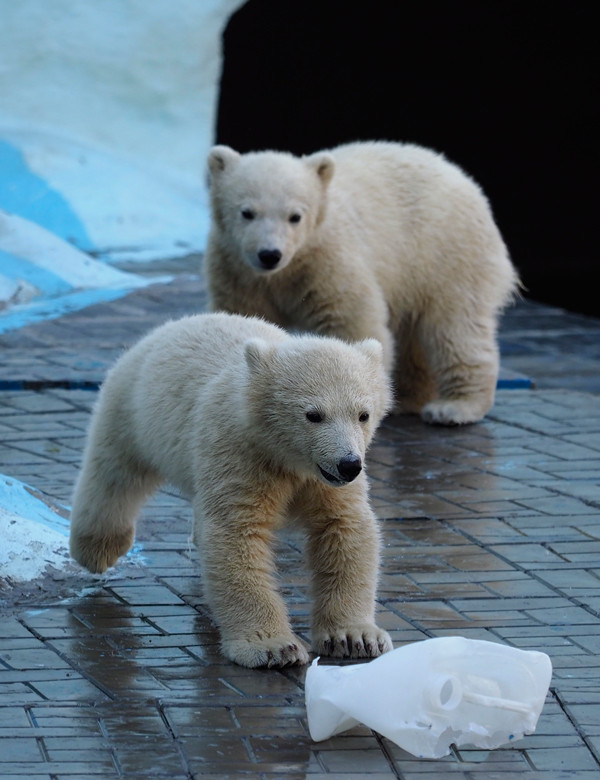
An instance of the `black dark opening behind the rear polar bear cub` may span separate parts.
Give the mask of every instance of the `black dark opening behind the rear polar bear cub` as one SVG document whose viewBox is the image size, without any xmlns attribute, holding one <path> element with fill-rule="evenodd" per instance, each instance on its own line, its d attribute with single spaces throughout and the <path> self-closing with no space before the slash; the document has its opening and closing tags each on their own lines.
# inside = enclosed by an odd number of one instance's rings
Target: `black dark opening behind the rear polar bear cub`
<svg viewBox="0 0 600 780">
<path fill-rule="evenodd" d="M 443 152 L 487 194 L 527 296 L 600 316 L 593 9 L 249 0 L 224 34 L 217 142 Z"/>
</svg>

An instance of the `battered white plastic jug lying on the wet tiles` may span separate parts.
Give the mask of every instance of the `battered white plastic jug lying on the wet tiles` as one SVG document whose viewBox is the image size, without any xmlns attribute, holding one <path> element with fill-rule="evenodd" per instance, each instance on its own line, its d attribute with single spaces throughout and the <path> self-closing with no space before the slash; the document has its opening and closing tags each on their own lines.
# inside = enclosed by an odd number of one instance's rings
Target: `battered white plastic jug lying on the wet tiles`
<svg viewBox="0 0 600 780">
<path fill-rule="evenodd" d="M 310 735 L 320 741 L 358 723 L 422 758 L 450 745 L 495 748 L 531 734 L 552 664 L 545 653 L 463 637 L 427 639 L 366 664 L 306 672 Z"/>
</svg>

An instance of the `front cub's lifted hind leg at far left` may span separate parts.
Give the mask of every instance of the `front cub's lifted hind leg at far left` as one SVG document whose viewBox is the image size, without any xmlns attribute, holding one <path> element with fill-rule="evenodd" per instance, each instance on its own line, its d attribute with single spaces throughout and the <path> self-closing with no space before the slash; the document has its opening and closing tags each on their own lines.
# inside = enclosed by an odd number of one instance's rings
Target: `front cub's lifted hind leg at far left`
<svg viewBox="0 0 600 780">
<path fill-rule="evenodd" d="M 128 451 L 129 443 L 108 420 L 95 415 L 71 510 L 71 555 L 94 573 L 129 550 L 141 505 L 161 481 Z"/>
</svg>

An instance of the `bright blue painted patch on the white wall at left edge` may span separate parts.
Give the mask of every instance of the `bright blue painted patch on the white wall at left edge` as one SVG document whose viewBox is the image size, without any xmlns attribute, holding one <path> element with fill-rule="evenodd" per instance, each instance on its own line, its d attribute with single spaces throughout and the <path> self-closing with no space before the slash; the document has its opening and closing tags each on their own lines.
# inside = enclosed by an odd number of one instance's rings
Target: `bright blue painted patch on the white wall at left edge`
<svg viewBox="0 0 600 780">
<path fill-rule="evenodd" d="M 41 225 L 79 249 L 95 248 L 68 201 L 27 167 L 19 149 L 2 140 L 0 208 Z"/>
</svg>

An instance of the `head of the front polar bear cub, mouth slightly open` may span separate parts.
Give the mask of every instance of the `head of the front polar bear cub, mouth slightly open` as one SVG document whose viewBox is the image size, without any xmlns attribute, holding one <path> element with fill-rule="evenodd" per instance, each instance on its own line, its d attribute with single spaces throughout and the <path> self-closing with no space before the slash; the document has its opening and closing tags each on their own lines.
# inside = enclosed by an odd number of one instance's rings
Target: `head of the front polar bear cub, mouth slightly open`
<svg viewBox="0 0 600 780">
<path fill-rule="evenodd" d="M 381 344 L 251 339 L 245 356 L 252 434 L 271 462 L 328 485 L 356 479 L 391 404 Z"/>
</svg>

